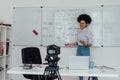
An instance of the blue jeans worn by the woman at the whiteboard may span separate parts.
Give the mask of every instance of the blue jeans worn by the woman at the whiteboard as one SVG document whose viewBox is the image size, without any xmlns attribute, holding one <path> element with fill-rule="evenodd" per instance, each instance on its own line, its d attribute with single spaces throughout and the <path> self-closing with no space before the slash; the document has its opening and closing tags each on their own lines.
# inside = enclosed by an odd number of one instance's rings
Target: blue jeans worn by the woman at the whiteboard
<svg viewBox="0 0 120 80">
<path fill-rule="evenodd" d="M 76 56 L 90 56 L 90 48 L 78 45 Z M 80 76 L 79 80 L 83 80 L 83 76 Z"/>
</svg>

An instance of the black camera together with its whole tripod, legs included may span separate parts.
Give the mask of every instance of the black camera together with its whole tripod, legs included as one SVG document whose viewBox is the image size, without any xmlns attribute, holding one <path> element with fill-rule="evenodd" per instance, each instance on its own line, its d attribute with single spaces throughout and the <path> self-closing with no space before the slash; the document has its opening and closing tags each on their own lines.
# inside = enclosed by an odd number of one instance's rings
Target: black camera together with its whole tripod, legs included
<svg viewBox="0 0 120 80">
<path fill-rule="evenodd" d="M 60 54 L 59 46 L 47 46 L 47 56 L 45 60 L 48 62 L 48 66 L 46 66 L 44 70 L 45 80 L 54 80 L 56 78 L 58 78 L 58 80 L 62 80 L 59 74 L 59 66 L 57 65 L 60 60 L 58 54 Z"/>
</svg>

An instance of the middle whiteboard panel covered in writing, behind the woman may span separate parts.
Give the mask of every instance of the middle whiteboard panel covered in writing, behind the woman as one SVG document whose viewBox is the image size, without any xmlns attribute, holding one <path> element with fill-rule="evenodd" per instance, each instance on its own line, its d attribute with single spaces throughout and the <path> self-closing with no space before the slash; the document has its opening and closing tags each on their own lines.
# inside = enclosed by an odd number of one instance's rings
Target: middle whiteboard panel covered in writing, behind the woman
<svg viewBox="0 0 120 80">
<path fill-rule="evenodd" d="M 93 21 L 89 26 L 93 33 L 93 46 L 102 44 L 102 8 L 42 8 L 42 44 L 56 44 L 64 46 L 65 43 L 77 41 L 79 23 L 77 17 L 82 14 L 89 14 Z"/>
</svg>

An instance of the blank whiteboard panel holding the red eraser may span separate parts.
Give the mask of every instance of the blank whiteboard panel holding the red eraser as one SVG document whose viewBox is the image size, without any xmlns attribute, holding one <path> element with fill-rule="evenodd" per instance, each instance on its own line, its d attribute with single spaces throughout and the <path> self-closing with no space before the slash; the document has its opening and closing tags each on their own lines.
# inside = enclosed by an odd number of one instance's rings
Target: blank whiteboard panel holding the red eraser
<svg viewBox="0 0 120 80">
<path fill-rule="evenodd" d="M 15 7 L 13 23 L 14 45 L 41 45 L 41 8 Z"/>
</svg>

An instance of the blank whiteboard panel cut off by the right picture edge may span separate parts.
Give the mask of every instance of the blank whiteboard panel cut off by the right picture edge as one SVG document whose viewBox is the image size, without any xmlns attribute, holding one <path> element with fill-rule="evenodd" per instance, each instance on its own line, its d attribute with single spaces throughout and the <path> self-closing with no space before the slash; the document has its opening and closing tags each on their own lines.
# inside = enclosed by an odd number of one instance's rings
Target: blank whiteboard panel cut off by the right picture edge
<svg viewBox="0 0 120 80">
<path fill-rule="evenodd" d="M 120 6 L 103 7 L 103 45 L 120 46 Z"/>
</svg>

